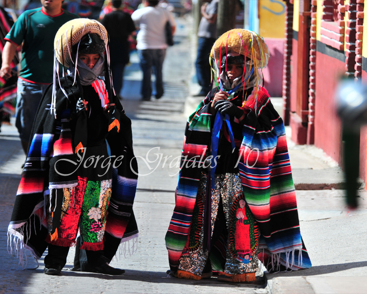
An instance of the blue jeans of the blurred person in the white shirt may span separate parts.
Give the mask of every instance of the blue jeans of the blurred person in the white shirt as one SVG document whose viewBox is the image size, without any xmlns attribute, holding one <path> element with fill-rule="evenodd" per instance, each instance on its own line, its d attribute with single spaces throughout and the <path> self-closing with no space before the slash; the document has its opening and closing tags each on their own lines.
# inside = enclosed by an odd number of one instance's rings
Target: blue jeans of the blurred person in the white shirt
<svg viewBox="0 0 367 294">
<path fill-rule="evenodd" d="M 162 67 L 166 49 L 146 49 L 138 51 L 140 68 L 143 71 L 141 94 L 144 100 L 149 100 L 152 93 L 151 72 L 155 75 L 156 98 L 163 96 Z"/>
</svg>

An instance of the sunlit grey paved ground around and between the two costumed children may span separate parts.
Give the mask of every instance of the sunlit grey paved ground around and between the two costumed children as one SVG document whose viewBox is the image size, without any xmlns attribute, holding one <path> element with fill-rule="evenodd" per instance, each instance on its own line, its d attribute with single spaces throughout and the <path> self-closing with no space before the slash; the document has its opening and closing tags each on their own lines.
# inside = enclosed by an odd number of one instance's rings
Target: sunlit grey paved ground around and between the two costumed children
<svg viewBox="0 0 367 294">
<path fill-rule="evenodd" d="M 43 274 L 40 266 L 22 270 L 18 258 L 8 254 L 7 227 L 25 160 L 14 126 L 3 126 L 0 133 L 0 294 L 3 293 L 363 293 L 367 277 L 367 195 L 359 191 L 360 208 L 350 211 L 344 204 L 344 191 L 330 189 L 335 163 L 316 148 L 289 142 L 294 174 L 326 176 L 325 190 L 297 190 L 301 232 L 313 266 L 300 272 L 260 274 L 255 284 L 167 278 L 167 250 L 164 236 L 174 208 L 177 162 L 182 148 L 186 115 L 184 104 L 192 77 L 192 40 L 187 20 L 178 19 L 176 44 L 167 51 L 164 64 L 165 94 L 160 100 L 140 101 L 141 72 L 137 55 L 126 68 L 122 104 L 133 121 L 135 155 L 138 157 L 138 190 L 134 204 L 140 236 L 138 250 L 121 249 L 121 258 L 112 266 L 126 269 L 113 277 L 68 271 L 73 251 L 62 276 Z M 281 107 L 280 99 L 273 104 Z M 279 109 L 278 109 L 279 110 Z M 312 174 L 317 172 L 317 174 Z M 327 177 L 329 175 L 329 177 Z M 320 176 L 320 177 L 321 177 Z M 340 176 L 341 177 L 341 176 Z M 308 184 L 307 184 L 308 185 Z M 303 187 L 307 186 L 303 185 Z M 309 187 L 309 186 L 307 186 Z M 28 256 L 27 268 L 37 263 Z M 354 288 L 353 288 L 354 287 Z M 364 291 L 365 292 L 365 291 Z"/>
</svg>

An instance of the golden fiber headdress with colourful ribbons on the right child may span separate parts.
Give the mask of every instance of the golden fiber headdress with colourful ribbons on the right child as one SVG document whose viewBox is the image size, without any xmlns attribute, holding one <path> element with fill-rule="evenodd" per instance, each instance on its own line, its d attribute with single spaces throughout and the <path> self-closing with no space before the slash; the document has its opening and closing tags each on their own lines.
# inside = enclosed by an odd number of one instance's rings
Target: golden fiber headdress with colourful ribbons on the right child
<svg viewBox="0 0 367 294">
<path fill-rule="evenodd" d="M 223 56 L 227 56 L 229 52 L 244 55 L 245 60 L 250 60 L 250 71 L 254 72 L 256 87 L 259 86 L 262 80 L 262 69 L 267 66 L 270 57 L 264 39 L 255 32 L 245 29 L 233 29 L 218 38 L 212 47 L 209 62 L 212 66 L 212 81 L 220 90 L 222 90 L 220 74 L 223 70 L 220 63 Z M 244 79 L 245 70 L 246 66 L 244 67 L 242 83 L 249 81 Z"/>
</svg>

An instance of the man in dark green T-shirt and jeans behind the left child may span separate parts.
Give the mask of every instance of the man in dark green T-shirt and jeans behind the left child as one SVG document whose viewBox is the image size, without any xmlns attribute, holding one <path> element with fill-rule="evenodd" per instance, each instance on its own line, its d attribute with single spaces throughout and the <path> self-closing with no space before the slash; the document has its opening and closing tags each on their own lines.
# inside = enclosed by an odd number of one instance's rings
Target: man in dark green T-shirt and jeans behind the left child
<svg viewBox="0 0 367 294">
<path fill-rule="evenodd" d="M 53 81 L 54 37 L 65 22 L 78 17 L 61 9 L 62 0 L 41 0 L 41 4 L 41 8 L 23 12 L 6 35 L 0 69 L 1 78 L 12 76 L 11 62 L 17 47 L 23 43 L 15 115 L 25 154 L 38 104 Z"/>
</svg>

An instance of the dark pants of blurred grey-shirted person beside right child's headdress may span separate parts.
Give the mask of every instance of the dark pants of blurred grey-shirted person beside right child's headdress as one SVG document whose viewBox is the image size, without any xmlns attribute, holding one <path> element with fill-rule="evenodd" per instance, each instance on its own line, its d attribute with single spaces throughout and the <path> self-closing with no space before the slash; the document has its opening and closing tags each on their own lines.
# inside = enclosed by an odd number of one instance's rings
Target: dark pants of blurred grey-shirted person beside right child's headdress
<svg viewBox="0 0 367 294">
<path fill-rule="evenodd" d="M 196 78 L 201 86 L 201 93 L 205 95 L 211 90 L 211 67 L 209 63 L 209 55 L 216 39 L 202 38 L 198 39 L 198 51 L 196 57 Z"/>
</svg>

